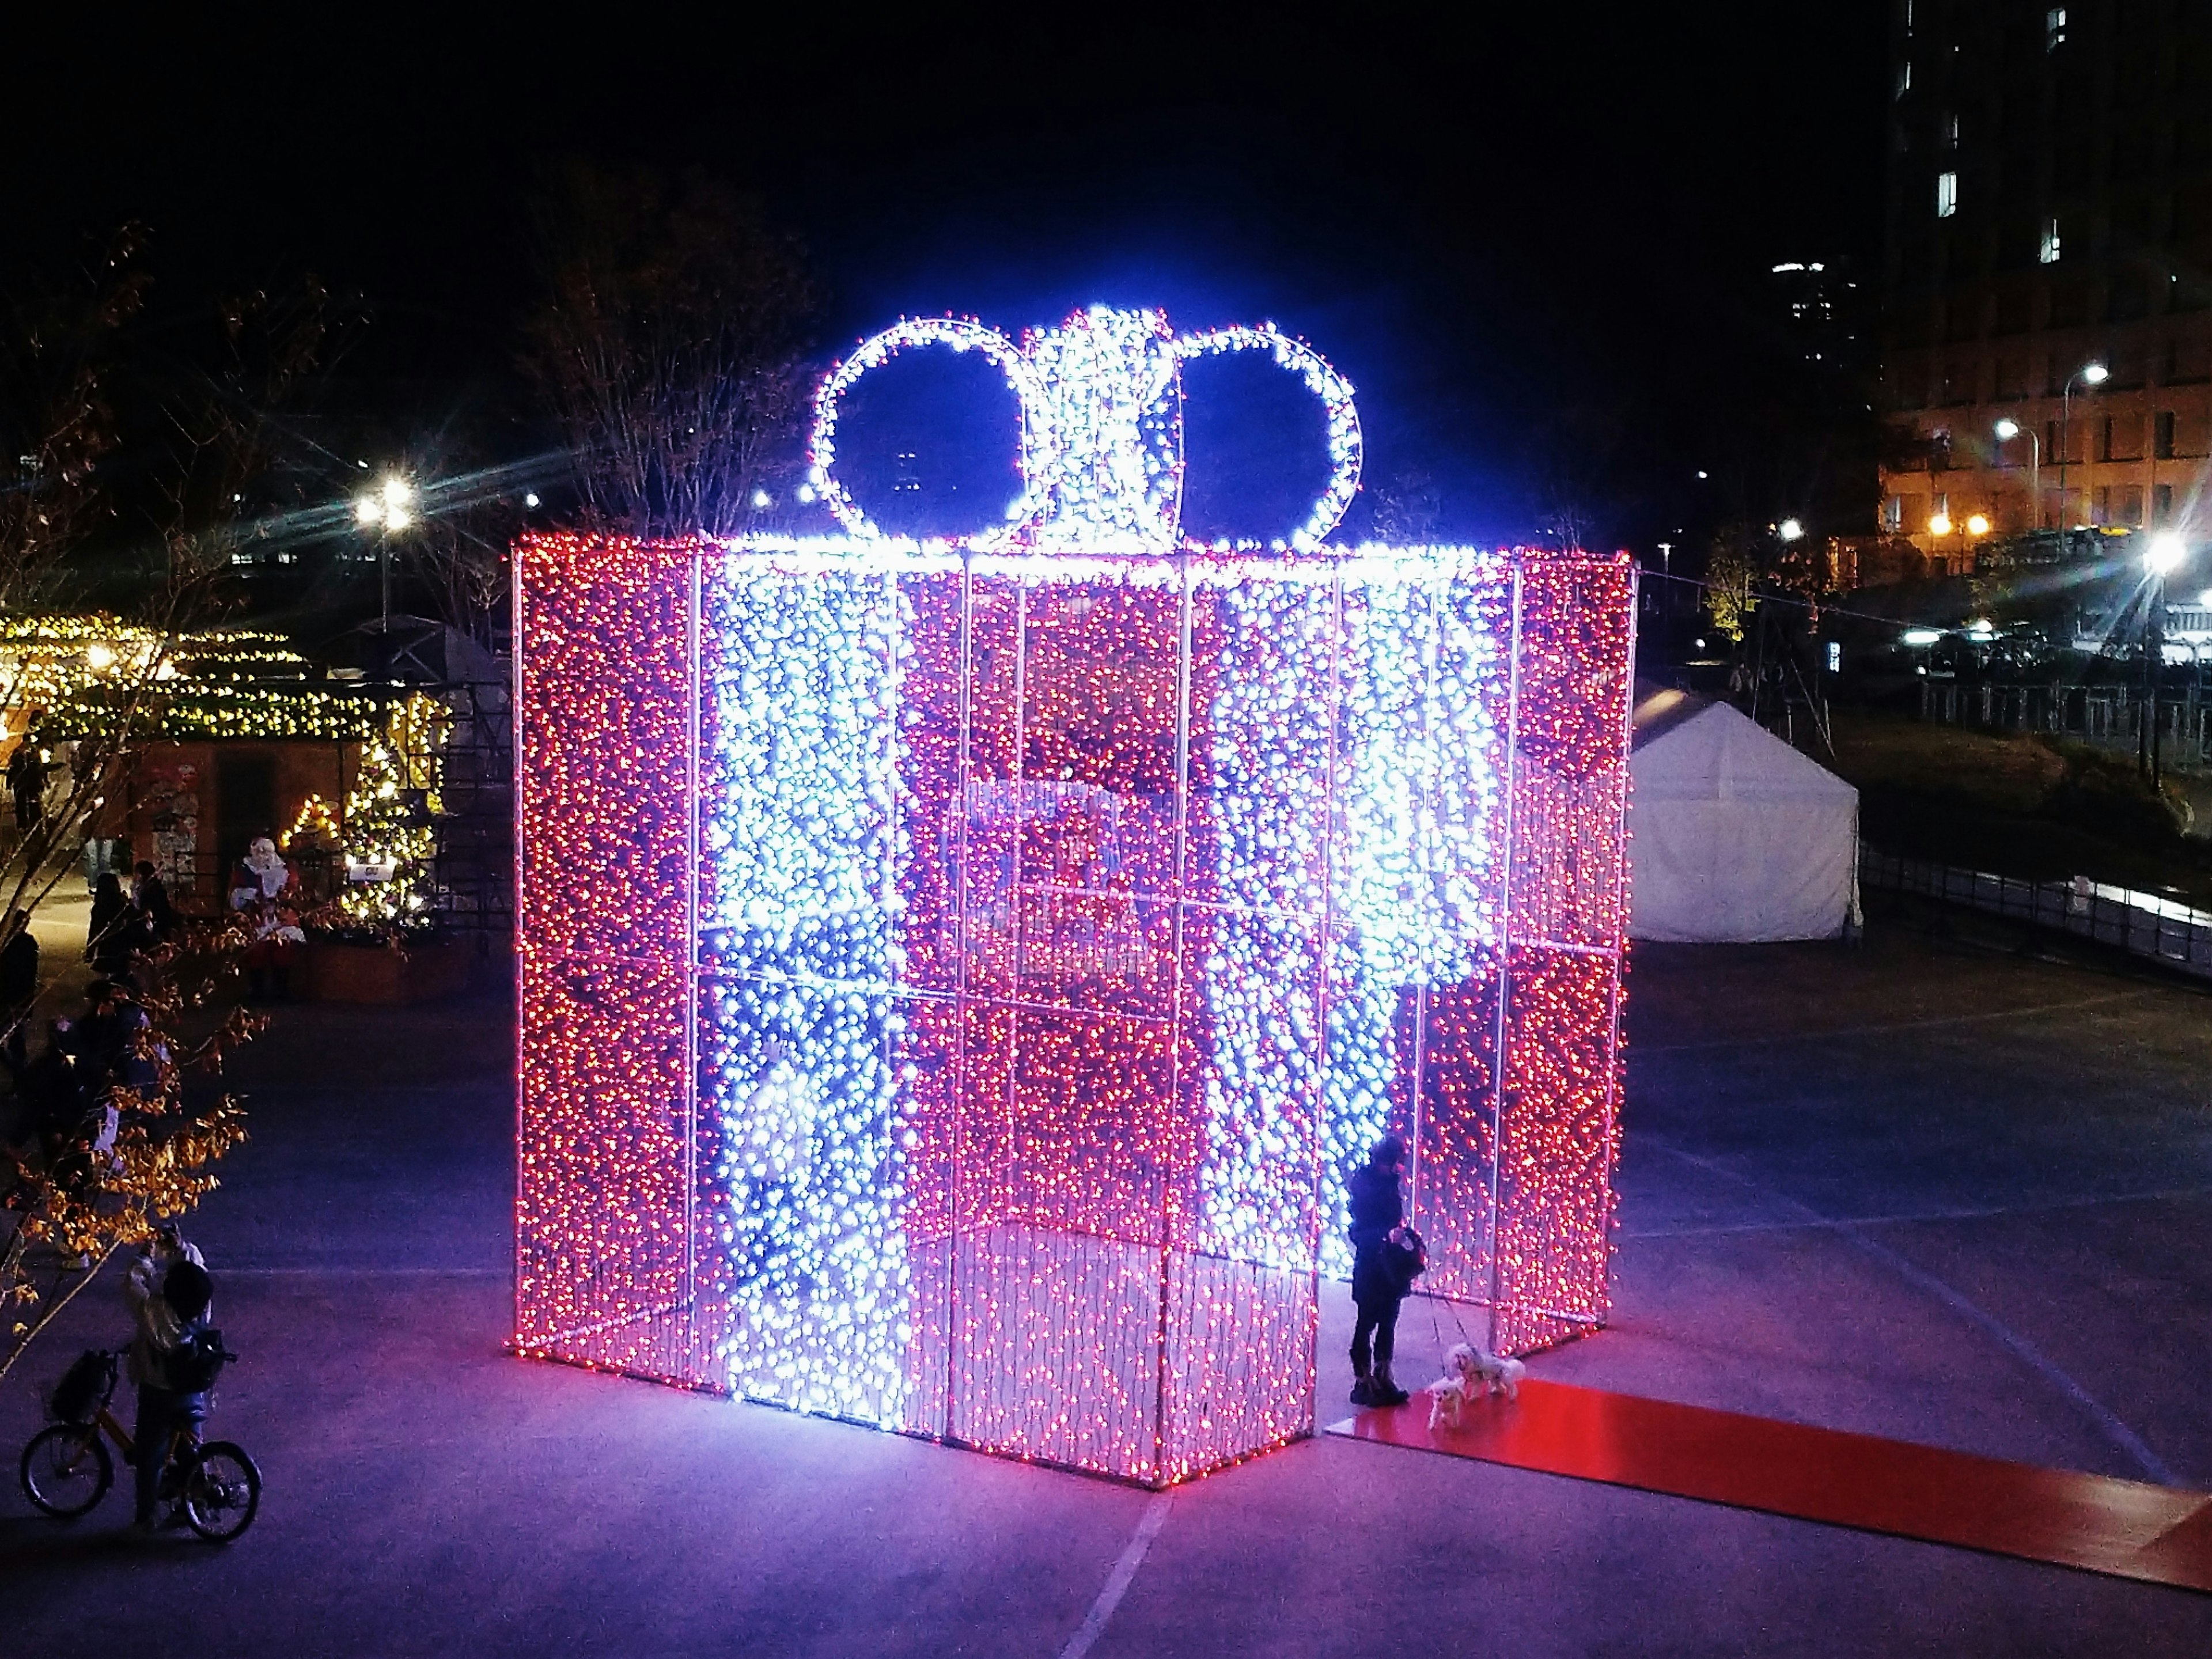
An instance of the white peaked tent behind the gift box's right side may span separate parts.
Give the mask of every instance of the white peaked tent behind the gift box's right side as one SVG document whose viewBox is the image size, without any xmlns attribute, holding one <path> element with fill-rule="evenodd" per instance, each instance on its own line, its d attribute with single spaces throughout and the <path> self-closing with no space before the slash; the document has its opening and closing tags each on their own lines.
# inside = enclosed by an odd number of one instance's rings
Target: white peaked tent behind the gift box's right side
<svg viewBox="0 0 2212 1659">
<path fill-rule="evenodd" d="M 1858 790 L 1728 703 L 1657 692 L 1628 754 L 1630 936 L 1836 938 L 1858 918 Z"/>
</svg>

